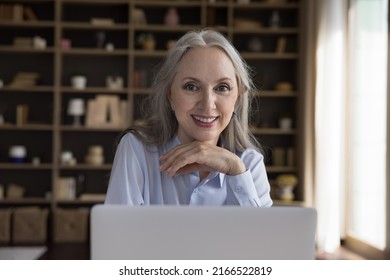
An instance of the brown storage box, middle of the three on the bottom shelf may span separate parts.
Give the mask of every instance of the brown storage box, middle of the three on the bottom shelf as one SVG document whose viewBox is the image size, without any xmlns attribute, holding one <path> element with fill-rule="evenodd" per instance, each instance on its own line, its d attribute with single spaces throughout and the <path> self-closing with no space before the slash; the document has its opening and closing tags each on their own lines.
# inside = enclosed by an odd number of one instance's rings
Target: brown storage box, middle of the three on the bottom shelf
<svg viewBox="0 0 390 280">
<path fill-rule="evenodd" d="M 14 244 L 44 244 L 47 240 L 48 209 L 39 207 L 15 208 L 12 221 Z"/>
</svg>

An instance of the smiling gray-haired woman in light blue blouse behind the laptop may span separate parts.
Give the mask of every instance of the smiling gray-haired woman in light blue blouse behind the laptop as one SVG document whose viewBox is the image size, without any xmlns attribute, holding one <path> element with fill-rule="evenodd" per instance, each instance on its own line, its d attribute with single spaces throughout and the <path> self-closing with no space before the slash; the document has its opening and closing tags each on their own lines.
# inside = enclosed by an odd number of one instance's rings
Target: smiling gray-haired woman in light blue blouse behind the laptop
<svg viewBox="0 0 390 280">
<path fill-rule="evenodd" d="M 154 89 L 145 123 L 120 139 L 107 204 L 272 205 L 263 156 L 248 129 L 254 87 L 223 35 L 185 34 Z"/>
</svg>

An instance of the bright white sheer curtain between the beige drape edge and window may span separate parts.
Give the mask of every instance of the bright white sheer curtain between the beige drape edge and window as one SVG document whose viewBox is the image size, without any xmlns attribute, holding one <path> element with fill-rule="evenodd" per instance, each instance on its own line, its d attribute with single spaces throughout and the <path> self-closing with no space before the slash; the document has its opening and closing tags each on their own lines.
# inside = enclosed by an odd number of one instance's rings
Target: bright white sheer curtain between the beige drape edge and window
<svg viewBox="0 0 390 280">
<path fill-rule="evenodd" d="M 318 249 L 326 252 L 340 245 L 343 217 L 347 2 L 317 1 L 314 203 Z"/>
</svg>

